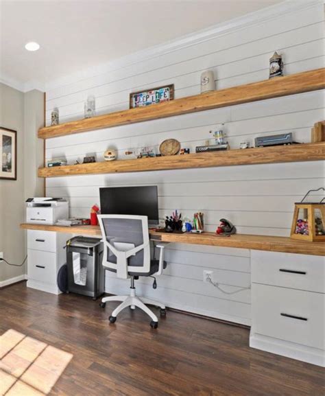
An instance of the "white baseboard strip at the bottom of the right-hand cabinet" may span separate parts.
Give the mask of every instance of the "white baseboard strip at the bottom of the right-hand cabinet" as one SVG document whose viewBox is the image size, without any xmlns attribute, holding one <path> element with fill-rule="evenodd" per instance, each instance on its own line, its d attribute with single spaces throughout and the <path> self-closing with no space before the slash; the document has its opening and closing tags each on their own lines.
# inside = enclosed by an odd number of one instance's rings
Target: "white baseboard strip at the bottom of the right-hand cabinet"
<svg viewBox="0 0 325 396">
<path fill-rule="evenodd" d="M 278 340 L 278 338 L 262 336 L 261 334 L 252 334 L 252 331 L 250 347 L 325 367 L 325 351 L 323 349 L 306 347 L 295 342 Z"/>
</svg>

